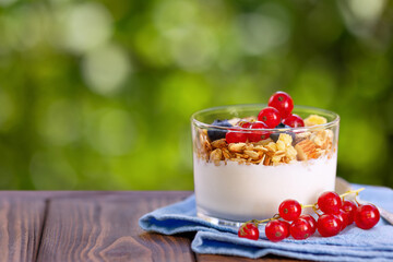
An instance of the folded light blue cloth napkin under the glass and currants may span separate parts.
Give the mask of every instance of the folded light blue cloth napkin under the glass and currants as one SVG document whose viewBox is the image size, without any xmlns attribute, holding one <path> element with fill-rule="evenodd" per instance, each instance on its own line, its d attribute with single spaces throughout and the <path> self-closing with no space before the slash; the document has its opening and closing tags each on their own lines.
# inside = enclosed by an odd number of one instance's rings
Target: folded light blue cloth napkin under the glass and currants
<svg viewBox="0 0 393 262">
<path fill-rule="evenodd" d="M 393 190 L 383 187 L 365 187 L 361 200 L 393 212 Z M 261 258 L 276 254 L 300 260 L 315 261 L 393 261 L 393 226 L 381 218 L 378 225 L 362 230 L 350 225 L 340 235 L 323 238 L 318 233 L 306 240 L 285 239 L 271 242 L 261 228 L 258 241 L 238 238 L 237 228 L 211 224 L 196 216 L 194 195 L 158 209 L 140 218 L 140 226 L 147 231 L 165 235 L 198 231 L 192 243 L 196 253 Z"/>
</svg>

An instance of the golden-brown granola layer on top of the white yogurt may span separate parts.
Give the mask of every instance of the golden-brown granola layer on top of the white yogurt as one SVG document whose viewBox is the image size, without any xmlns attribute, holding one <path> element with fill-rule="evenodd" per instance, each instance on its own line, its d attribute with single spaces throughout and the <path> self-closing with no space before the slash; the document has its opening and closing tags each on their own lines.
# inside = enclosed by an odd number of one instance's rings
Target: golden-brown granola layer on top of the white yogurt
<svg viewBox="0 0 393 262">
<path fill-rule="evenodd" d="M 254 118 L 231 119 L 229 122 L 239 123 L 254 121 Z M 326 119 L 311 115 L 306 119 L 307 124 L 319 124 Z M 305 120 L 305 124 L 306 124 Z M 332 156 L 333 131 L 329 129 L 306 131 L 290 135 L 279 133 L 276 142 L 271 138 L 258 142 L 227 143 L 226 139 L 211 141 L 206 130 L 200 130 L 195 142 L 196 156 L 216 166 L 227 162 L 246 165 L 276 166 L 294 162 L 317 159 L 324 155 Z"/>
</svg>

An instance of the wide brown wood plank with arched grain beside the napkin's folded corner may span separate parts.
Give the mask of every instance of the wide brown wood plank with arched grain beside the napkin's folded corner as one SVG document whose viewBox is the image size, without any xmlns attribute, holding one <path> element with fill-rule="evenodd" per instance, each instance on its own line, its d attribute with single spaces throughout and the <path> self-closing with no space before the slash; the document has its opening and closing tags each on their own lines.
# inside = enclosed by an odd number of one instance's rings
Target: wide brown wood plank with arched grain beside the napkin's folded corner
<svg viewBox="0 0 393 262">
<path fill-rule="evenodd" d="M 187 236 L 144 233 L 143 214 L 191 192 L 115 192 L 56 198 L 37 261 L 194 261 Z"/>
</svg>

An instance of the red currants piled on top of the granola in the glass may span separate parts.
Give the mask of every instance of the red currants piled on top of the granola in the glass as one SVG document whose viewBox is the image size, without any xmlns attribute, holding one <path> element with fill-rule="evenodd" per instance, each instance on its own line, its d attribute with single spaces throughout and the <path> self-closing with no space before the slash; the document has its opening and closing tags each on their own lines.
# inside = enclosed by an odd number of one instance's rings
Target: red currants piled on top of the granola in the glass
<svg viewBox="0 0 393 262">
<path fill-rule="evenodd" d="M 298 115 L 291 114 L 294 100 L 287 93 L 274 93 L 267 105 L 259 112 L 258 121 L 242 121 L 231 128 L 231 131 L 227 132 L 225 136 L 227 143 L 258 142 L 269 139 L 272 131 L 263 129 L 305 127 L 303 120 Z M 245 131 L 242 129 L 255 130 Z"/>
</svg>

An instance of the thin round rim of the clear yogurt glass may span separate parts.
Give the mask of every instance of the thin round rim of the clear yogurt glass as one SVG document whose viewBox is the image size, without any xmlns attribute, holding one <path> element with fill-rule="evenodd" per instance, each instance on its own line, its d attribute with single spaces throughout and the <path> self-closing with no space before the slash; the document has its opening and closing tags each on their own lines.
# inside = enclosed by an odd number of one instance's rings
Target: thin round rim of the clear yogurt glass
<svg viewBox="0 0 393 262">
<path fill-rule="evenodd" d="M 215 124 L 211 124 L 211 123 L 205 123 L 202 121 L 196 120 L 196 116 L 201 115 L 201 114 L 205 114 L 205 112 L 213 112 L 213 111 L 218 111 L 218 110 L 223 110 L 223 109 L 227 109 L 227 108 L 252 108 L 252 107 L 261 107 L 262 108 L 266 107 L 266 104 L 239 104 L 239 105 L 227 105 L 227 106 L 218 106 L 218 107 L 210 107 L 210 108 L 205 108 L 199 111 L 195 111 L 194 114 L 191 115 L 191 122 L 193 126 L 198 127 L 198 128 L 203 128 L 203 129 L 222 129 L 222 130 L 231 130 L 231 131 L 255 131 L 255 130 L 265 130 L 265 131 L 293 131 L 293 132 L 306 132 L 309 130 L 314 130 L 314 129 L 326 129 L 326 128 L 331 128 L 334 127 L 336 124 L 338 124 L 340 122 L 340 116 L 338 114 L 331 111 L 331 110 L 326 110 L 326 109 L 322 109 L 322 108 L 318 108 L 318 107 L 311 107 L 311 106 L 294 106 L 294 109 L 305 109 L 305 110 L 314 110 L 315 115 L 318 115 L 318 112 L 324 114 L 324 115 L 331 115 L 333 116 L 333 120 L 332 121 L 327 121 L 326 123 L 321 123 L 321 124 L 314 124 L 314 126 L 310 126 L 310 127 L 300 127 L 300 128 L 275 128 L 275 129 L 250 129 L 250 128 L 241 128 L 241 127 L 237 127 L 236 130 L 234 130 L 234 127 L 221 127 L 221 126 L 215 126 Z M 228 119 L 230 120 L 230 119 Z"/>
</svg>

